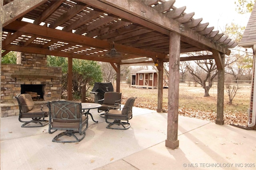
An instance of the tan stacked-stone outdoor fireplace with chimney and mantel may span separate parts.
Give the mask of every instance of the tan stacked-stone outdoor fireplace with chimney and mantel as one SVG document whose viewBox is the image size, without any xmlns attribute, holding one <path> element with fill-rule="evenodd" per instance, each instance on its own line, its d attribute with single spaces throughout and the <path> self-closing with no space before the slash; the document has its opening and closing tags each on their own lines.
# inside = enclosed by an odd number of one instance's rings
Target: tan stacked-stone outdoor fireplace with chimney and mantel
<svg viewBox="0 0 256 170">
<path fill-rule="evenodd" d="M 17 63 L 2 64 L 1 117 L 19 114 L 18 94 L 30 94 L 35 107 L 61 99 L 61 67 L 47 67 L 46 55 L 30 53 L 18 55 Z"/>
</svg>

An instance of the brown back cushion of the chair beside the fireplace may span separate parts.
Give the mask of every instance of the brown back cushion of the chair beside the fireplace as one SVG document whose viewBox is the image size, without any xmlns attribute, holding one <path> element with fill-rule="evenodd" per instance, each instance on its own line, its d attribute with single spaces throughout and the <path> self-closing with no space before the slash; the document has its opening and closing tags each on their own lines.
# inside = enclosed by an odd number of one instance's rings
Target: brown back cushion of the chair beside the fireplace
<svg viewBox="0 0 256 170">
<path fill-rule="evenodd" d="M 20 101 L 20 106 L 23 113 L 26 113 L 34 108 L 34 102 L 30 94 L 21 94 L 18 96 L 18 99 Z"/>
</svg>

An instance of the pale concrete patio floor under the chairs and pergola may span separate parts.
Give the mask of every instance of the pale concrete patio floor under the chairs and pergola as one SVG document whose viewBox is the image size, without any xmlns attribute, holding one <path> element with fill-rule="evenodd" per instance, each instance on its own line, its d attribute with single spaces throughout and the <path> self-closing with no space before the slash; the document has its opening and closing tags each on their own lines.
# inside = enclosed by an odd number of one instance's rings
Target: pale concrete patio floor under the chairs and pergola
<svg viewBox="0 0 256 170">
<path fill-rule="evenodd" d="M 48 125 L 22 128 L 18 116 L 0 119 L 1 170 L 256 169 L 256 131 L 179 116 L 178 149 L 165 147 L 167 113 L 133 107 L 128 130 L 106 129 L 90 111 L 86 137 L 54 143 Z"/>
</svg>

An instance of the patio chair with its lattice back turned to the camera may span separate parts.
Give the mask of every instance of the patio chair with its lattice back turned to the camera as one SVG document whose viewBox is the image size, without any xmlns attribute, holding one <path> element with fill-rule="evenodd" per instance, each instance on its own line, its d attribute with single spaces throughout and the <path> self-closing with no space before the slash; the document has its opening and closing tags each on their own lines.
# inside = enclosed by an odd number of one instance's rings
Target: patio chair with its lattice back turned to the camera
<svg viewBox="0 0 256 170">
<path fill-rule="evenodd" d="M 56 135 L 52 142 L 74 143 L 84 139 L 88 128 L 88 117 L 82 114 L 81 103 L 58 100 L 48 102 L 47 106 L 49 108 L 49 133 L 64 130 Z"/>
</svg>

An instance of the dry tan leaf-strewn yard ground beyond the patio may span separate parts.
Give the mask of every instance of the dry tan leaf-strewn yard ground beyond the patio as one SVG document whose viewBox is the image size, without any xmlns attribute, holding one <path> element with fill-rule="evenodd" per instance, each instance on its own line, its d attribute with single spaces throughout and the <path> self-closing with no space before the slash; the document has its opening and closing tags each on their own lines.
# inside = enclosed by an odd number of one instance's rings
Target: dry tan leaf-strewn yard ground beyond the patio
<svg viewBox="0 0 256 170">
<path fill-rule="evenodd" d="M 115 89 L 115 87 L 114 87 Z M 224 92 L 224 120 L 225 124 L 235 124 L 246 126 L 248 121 L 247 110 L 250 105 L 251 86 L 239 86 L 232 104 L 228 104 L 228 93 Z M 122 93 L 122 104 L 130 96 L 137 97 L 135 107 L 146 109 L 157 109 L 157 89 L 134 88 L 129 84 L 122 83 L 120 92 Z M 163 109 L 168 111 L 168 89 L 163 89 Z M 217 86 L 214 85 L 209 97 L 204 96 L 204 89 L 198 86 L 180 84 L 179 88 L 179 114 L 187 117 L 195 117 L 215 122 L 217 109 Z"/>
</svg>

